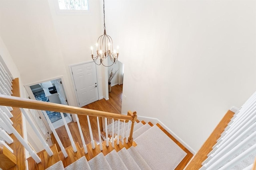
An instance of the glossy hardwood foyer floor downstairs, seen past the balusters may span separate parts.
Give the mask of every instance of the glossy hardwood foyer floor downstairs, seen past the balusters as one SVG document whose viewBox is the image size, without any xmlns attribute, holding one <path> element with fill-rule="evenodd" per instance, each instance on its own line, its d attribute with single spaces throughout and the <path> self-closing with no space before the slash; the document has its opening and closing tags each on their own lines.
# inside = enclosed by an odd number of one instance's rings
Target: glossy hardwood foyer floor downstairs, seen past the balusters
<svg viewBox="0 0 256 170">
<path fill-rule="evenodd" d="M 121 107 L 122 107 L 122 88 L 123 85 L 116 85 L 112 87 L 111 92 L 109 93 L 109 100 L 101 99 L 96 102 L 93 102 L 91 104 L 88 104 L 86 106 L 83 106 L 83 108 L 87 109 L 94 109 L 94 110 L 100 110 L 100 111 L 106 111 L 111 113 L 117 113 L 121 114 Z M 90 143 L 90 134 L 89 134 L 89 127 L 88 127 L 88 121 L 86 116 L 78 115 L 81 129 L 84 135 L 85 143 Z M 98 137 L 98 127 L 97 127 L 97 118 L 90 116 L 90 124 L 92 127 L 92 133 L 93 138 L 96 143 L 99 143 L 99 137 Z M 68 123 L 68 127 L 70 128 L 70 132 L 72 134 L 74 142 L 78 142 L 80 147 L 82 147 L 82 140 L 80 138 L 80 133 L 78 131 L 78 125 L 76 122 L 70 122 Z M 66 129 L 64 126 L 59 127 L 56 129 L 56 132 L 58 136 L 60 137 L 60 141 L 62 142 L 62 145 L 64 148 L 71 145 L 70 139 L 68 138 L 68 133 L 66 132 Z M 52 136 L 53 143 L 56 143 L 56 139 Z M 60 148 L 57 146 L 58 150 Z"/>
</svg>

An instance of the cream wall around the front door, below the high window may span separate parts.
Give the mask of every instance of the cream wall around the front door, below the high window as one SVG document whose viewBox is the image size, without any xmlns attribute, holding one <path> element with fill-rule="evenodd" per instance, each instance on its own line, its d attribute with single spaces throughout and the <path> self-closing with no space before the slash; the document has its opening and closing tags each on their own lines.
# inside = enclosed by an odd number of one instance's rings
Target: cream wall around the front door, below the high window
<svg viewBox="0 0 256 170">
<path fill-rule="evenodd" d="M 83 15 L 58 15 L 51 2 L 1 0 L 0 36 L 25 85 L 63 77 L 68 103 L 77 106 L 69 65 L 92 60 L 90 45 L 100 34 L 99 1 L 89 1 Z"/>
</svg>

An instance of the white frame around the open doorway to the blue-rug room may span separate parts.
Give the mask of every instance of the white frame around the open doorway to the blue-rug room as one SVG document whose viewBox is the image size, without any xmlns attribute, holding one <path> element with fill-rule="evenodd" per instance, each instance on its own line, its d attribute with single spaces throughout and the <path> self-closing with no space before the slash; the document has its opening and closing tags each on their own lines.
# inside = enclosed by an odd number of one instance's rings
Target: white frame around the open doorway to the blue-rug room
<svg viewBox="0 0 256 170">
<path fill-rule="evenodd" d="M 26 85 L 24 85 L 24 88 L 25 88 L 26 91 L 28 92 L 28 96 L 30 97 L 30 99 L 36 100 L 36 98 L 35 98 L 35 96 L 34 96 L 32 90 L 31 90 L 30 86 L 33 86 L 33 85 L 36 85 L 36 84 L 39 84 L 39 83 L 43 83 L 43 82 L 52 81 L 52 80 L 59 79 L 59 78 L 60 78 L 60 80 L 63 82 L 63 76 L 58 76 L 58 77 L 54 77 L 54 78 L 50 78 L 50 79 L 46 79 L 46 80 L 40 80 L 40 81 L 38 81 L 38 82 L 34 82 L 34 83 L 31 83 L 31 84 L 26 84 Z M 64 89 L 64 91 L 65 91 L 65 93 L 66 93 L 66 88 L 65 88 L 64 82 L 63 82 L 62 84 L 63 84 L 63 85 L 62 85 L 62 86 L 63 86 L 63 89 Z M 66 96 L 66 98 L 67 98 L 67 96 Z M 67 98 L 67 100 L 68 100 L 68 98 Z M 38 112 L 38 114 L 40 115 L 42 121 L 44 122 L 44 125 L 46 126 L 46 129 L 47 129 L 48 132 L 51 134 L 51 133 L 52 133 L 52 130 L 50 129 L 50 126 L 49 126 L 49 124 L 48 124 L 46 118 L 44 117 L 42 111 L 38 111 L 38 110 L 37 110 L 37 112 Z M 72 117 L 72 118 L 73 118 L 73 117 Z M 73 119 L 73 121 L 74 121 L 74 119 Z"/>
</svg>

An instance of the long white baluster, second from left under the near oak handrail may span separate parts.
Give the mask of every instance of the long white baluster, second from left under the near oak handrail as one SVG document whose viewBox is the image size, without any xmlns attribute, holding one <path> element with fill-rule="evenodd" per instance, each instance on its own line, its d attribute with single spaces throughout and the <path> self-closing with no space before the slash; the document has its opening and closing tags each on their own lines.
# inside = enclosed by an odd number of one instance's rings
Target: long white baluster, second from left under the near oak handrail
<svg viewBox="0 0 256 170">
<path fill-rule="evenodd" d="M 36 135 L 38 136 L 39 140 L 41 141 L 41 143 L 44 146 L 44 149 L 46 150 L 46 152 L 48 153 L 49 156 L 53 155 L 52 150 L 50 149 L 49 145 L 46 143 L 45 139 L 42 137 L 40 131 L 37 129 L 36 125 L 34 124 L 34 122 L 31 120 L 31 118 L 28 116 L 28 113 L 23 109 L 20 108 L 21 112 L 23 113 L 23 115 L 26 117 L 28 123 L 30 124 L 30 126 L 32 127 L 32 129 L 34 129 L 34 132 L 36 133 Z"/>
</svg>

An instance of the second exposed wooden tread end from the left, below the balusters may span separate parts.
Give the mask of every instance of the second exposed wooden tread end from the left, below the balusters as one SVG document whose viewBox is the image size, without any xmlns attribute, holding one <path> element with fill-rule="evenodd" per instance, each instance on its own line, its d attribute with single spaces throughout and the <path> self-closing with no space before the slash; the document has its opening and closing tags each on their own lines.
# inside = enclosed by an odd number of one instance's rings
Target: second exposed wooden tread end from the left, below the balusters
<svg viewBox="0 0 256 170">
<path fill-rule="evenodd" d="M 65 158 L 64 154 L 61 151 L 59 152 L 58 155 L 60 157 L 60 160 L 62 160 L 62 163 L 63 163 L 64 167 L 72 164 L 73 162 L 75 162 L 79 158 L 85 156 L 85 153 L 80 148 L 78 142 L 76 142 L 75 145 L 76 145 L 77 152 L 74 152 L 72 146 L 69 146 L 65 149 L 67 154 L 68 154 L 68 157 L 66 157 L 66 158 Z"/>
</svg>

